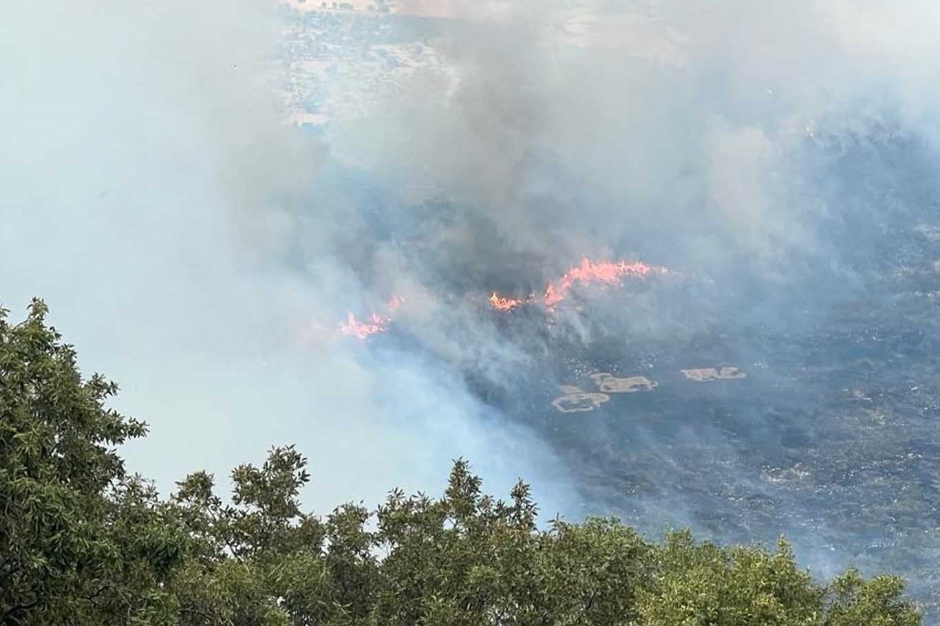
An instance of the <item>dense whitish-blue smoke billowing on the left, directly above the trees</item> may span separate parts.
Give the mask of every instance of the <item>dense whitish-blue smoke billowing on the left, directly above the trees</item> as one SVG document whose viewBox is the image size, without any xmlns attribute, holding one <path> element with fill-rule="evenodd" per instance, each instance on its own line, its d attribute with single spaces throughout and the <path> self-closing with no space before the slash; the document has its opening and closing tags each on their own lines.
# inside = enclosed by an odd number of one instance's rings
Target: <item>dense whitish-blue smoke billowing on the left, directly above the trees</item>
<svg viewBox="0 0 940 626">
<path fill-rule="evenodd" d="M 121 383 L 118 409 L 151 426 L 129 465 L 164 492 L 199 468 L 225 484 L 287 443 L 308 455 L 321 511 L 433 491 L 458 456 L 497 493 L 553 476 L 538 438 L 455 370 L 333 336 L 373 303 L 336 256 L 357 231 L 330 224 L 346 198 L 328 147 L 285 124 L 284 28 L 262 1 L 10 8 L 3 305 L 15 317 L 46 298 L 86 372 Z M 311 334 L 321 322 L 330 334 Z M 566 506 L 562 477 L 541 483 L 551 513 Z"/>
</svg>

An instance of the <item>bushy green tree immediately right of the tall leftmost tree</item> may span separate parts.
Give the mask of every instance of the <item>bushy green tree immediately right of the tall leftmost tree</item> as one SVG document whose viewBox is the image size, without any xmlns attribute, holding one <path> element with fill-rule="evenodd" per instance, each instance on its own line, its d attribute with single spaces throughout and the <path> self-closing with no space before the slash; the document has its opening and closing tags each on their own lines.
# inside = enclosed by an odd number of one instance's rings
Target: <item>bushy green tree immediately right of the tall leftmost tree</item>
<svg viewBox="0 0 940 626">
<path fill-rule="evenodd" d="M 190 559 L 174 580 L 182 624 L 244 626 L 321 623 L 320 520 L 300 510 L 309 480 L 292 447 L 274 448 L 261 467 L 232 472 L 232 504 L 213 491 L 213 477 L 196 472 L 172 497 L 192 540 Z"/>
</svg>

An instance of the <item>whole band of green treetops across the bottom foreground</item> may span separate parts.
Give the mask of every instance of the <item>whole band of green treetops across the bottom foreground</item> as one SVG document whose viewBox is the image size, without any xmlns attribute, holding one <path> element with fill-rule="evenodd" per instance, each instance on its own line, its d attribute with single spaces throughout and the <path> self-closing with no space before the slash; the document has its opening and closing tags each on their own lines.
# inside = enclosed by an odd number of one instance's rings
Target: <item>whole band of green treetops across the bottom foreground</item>
<svg viewBox="0 0 940 626">
<path fill-rule="evenodd" d="M 537 524 L 529 487 L 483 493 L 454 462 L 439 498 L 305 511 L 293 446 L 161 498 L 117 446 L 144 423 L 83 379 L 34 301 L 0 309 L 0 623 L 180 626 L 915 626 L 901 578 L 827 582 L 791 546 L 650 541 L 616 519 Z"/>
</svg>

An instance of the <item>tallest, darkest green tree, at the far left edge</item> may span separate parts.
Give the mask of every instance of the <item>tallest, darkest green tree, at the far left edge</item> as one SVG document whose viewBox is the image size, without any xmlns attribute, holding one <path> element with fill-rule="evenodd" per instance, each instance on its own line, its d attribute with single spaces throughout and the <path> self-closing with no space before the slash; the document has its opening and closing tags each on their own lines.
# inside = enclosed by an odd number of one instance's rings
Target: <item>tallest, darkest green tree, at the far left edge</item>
<svg viewBox="0 0 940 626">
<path fill-rule="evenodd" d="M 115 446 L 145 425 L 104 407 L 118 386 L 83 381 L 71 346 L 34 300 L 0 309 L 0 622 L 159 623 L 181 556 L 156 494 Z"/>
</svg>

